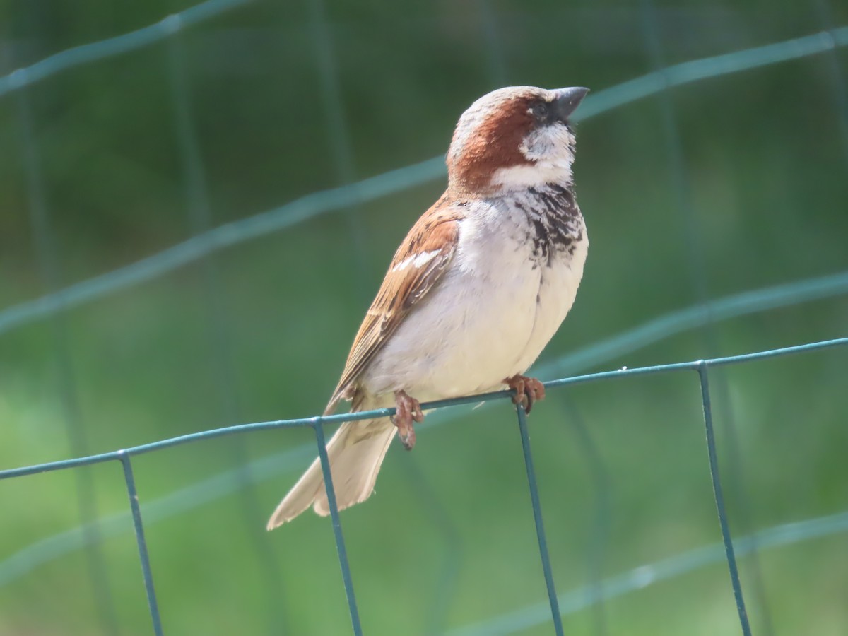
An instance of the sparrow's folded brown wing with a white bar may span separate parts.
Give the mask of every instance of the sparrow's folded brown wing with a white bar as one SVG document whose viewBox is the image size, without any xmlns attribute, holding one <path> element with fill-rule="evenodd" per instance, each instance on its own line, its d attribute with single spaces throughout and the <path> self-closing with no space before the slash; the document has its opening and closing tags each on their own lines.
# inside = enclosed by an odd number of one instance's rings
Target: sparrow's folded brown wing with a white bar
<svg viewBox="0 0 848 636">
<path fill-rule="evenodd" d="M 443 197 L 412 226 L 365 314 L 325 415 L 335 409 L 340 399 L 354 398 L 354 383 L 362 371 L 444 274 L 456 249 L 459 218 L 459 210 Z"/>
</svg>

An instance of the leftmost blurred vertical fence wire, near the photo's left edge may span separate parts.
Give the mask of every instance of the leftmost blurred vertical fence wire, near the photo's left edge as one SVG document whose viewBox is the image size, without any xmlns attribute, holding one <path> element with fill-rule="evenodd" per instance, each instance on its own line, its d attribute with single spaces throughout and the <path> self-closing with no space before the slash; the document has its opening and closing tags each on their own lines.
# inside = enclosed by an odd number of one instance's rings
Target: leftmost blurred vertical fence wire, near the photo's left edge
<svg viewBox="0 0 848 636">
<path fill-rule="evenodd" d="M 32 121 L 29 90 L 22 88 L 17 95 L 20 134 L 23 144 L 26 195 L 29 199 L 30 221 L 35 241 L 36 259 L 48 293 L 56 293 L 62 287 L 58 252 L 47 211 L 47 189 L 42 175 L 36 133 Z M 64 425 L 68 436 L 70 454 L 81 457 L 88 455 L 90 446 L 82 421 L 73 360 L 68 341 L 67 315 L 51 316 L 50 330 L 53 338 L 53 355 L 58 371 L 59 394 L 64 411 Z M 103 558 L 100 527 L 98 523 L 97 494 L 92 469 L 83 467 L 75 471 L 76 505 L 83 528 L 86 545 L 86 567 L 92 583 L 94 604 L 103 633 L 119 633 L 114 598 L 109 585 L 109 575 Z"/>
</svg>

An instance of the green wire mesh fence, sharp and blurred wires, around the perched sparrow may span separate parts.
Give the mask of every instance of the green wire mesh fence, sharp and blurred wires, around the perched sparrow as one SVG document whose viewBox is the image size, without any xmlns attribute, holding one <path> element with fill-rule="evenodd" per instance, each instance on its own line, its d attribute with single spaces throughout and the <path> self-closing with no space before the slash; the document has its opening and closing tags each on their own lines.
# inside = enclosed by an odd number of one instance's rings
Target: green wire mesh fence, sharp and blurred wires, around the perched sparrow
<svg viewBox="0 0 848 636">
<path fill-rule="evenodd" d="M 362 633 L 359 617 L 359 607 L 354 594 L 354 576 L 349 566 L 347 551 L 344 544 L 342 525 L 338 515 L 335 496 L 332 488 L 332 474 L 329 470 L 324 438 L 324 425 L 337 424 L 343 421 L 369 419 L 375 416 L 388 416 L 393 409 L 376 410 L 366 413 L 346 414 L 336 416 L 318 416 L 304 419 L 263 421 L 236 426 L 220 427 L 204 432 L 192 433 L 176 438 L 163 439 L 151 444 L 142 444 L 128 449 L 120 449 L 110 453 L 90 455 L 87 452 L 87 442 L 80 425 L 78 415 L 75 415 L 75 386 L 70 372 L 66 336 L 64 335 L 64 312 L 71 308 L 92 302 L 109 293 L 132 287 L 149 281 L 157 276 L 175 271 L 181 266 L 201 260 L 204 263 L 204 290 L 210 316 L 210 330 L 215 332 L 218 348 L 212 352 L 216 357 L 216 367 L 220 369 L 220 387 L 225 390 L 232 385 L 232 363 L 229 360 L 229 343 L 226 338 L 226 312 L 218 296 L 218 266 L 215 254 L 224 248 L 237 243 L 243 243 L 256 237 L 262 237 L 270 232 L 285 230 L 298 223 L 314 218 L 317 215 L 386 197 L 393 192 L 400 192 L 418 184 L 444 178 L 444 159 L 434 157 L 416 165 L 410 165 L 399 170 L 392 170 L 379 176 L 354 182 L 354 169 L 348 127 L 339 107 L 338 71 L 335 67 L 332 51 L 332 38 L 326 29 L 326 16 L 321 0 L 310 3 L 311 20 L 315 33 L 316 57 L 319 60 L 318 70 L 321 75 L 321 96 L 326 110 L 326 119 L 332 135 L 337 139 L 334 148 L 334 165 L 341 181 L 349 183 L 321 192 L 315 192 L 284 204 L 276 209 L 268 210 L 244 220 L 234 221 L 222 226 L 212 227 L 209 215 L 209 203 L 206 195 L 204 172 L 199 160 L 198 142 L 192 128 L 192 104 L 185 89 L 185 61 L 181 49 L 181 31 L 209 20 L 223 12 L 238 8 L 249 0 L 209 0 L 195 7 L 173 14 L 155 25 L 132 31 L 123 36 L 117 36 L 101 42 L 75 47 L 53 55 L 41 62 L 32 64 L 24 69 L 15 70 L 9 75 L 0 77 L 0 97 L 13 94 L 18 99 L 20 127 L 25 148 L 25 169 L 28 179 L 28 194 L 31 204 L 31 222 L 36 236 L 36 248 L 42 274 L 47 281 L 48 293 L 41 298 L 15 304 L 0 310 L 0 334 L 11 332 L 17 327 L 25 326 L 33 321 L 48 318 L 53 325 L 53 338 L 59 367 L 63 378 L 63 402 L 68 421 L 71 459 L 59 460 L 23 466 L 0 471 L 0 479 L 25 477 L 45 471 L 64 471 L 81 469 L 103 462 L 120 462 L 131 516 L 132 527 L 136 534 L 139 561 L 142 567 L 145 589 L 147 591 L 149 612 L 153 624 L 153 633 L 162 634 L 164 628 L 159 616 L 156 588 L 153 583 L 153 572 L 150 566 L 148 548 L 144 537 L 145 524 L 158 521 L 166 516 L 185 512 L 190 506 L 198 505 L 222 497 L 235 489 L 246 491 L 246 504 L 258 505 L 254 495 L 250 494 L 259 479 L 269 477 L 282 471 L 286 466 L 302 459 L 312 452 L 309 446 L 300 447 L 282 454 L 273 455 L 259 461 L 249 462 L 244 469 L 226 471 L 209 478 L 204 482 L 184 488 L 165 498 L 149 502 L 145 505 L 138 499 L 135 477 L 132 471 L 132 458 L 144 453 L 159 451 L 181 444 L 193 444 L 209 438 L 232 436 L 243 438 L 243 434 L 271 428 L 311 428 L 315 433 L 315 444 L 321 458 L 321 465 L 327 488 L 327 497 L 331 511 L 332 529 L 338 562 L 343 577 L 344 590 L 347 594 L 351 625 L 354 633 Z M 727 53 L 706 59 L 698 59 L 683 64 L 665 66 L 662 62 L 659 39 L 656 36 L 656 19 L 654 9 L 647 0 L 642 3 L 644 18 L 645 41 L 649 48 L 650 59 L 655 70 L 648 75 L 635 78 L 622 84 L 611 86 L 605 90 L 594 92 L 585 100 L 578 111 L 578 119 L 590 117 L 632 103 L 640 98 L 661 94 L 672 86 L 704 80 L 719 75 L 741 70 L 753 69 L 768 64 L 778 64 L 790 59 L 833 52 L 836 48 L 848 45 L 848 26 L 829 28 L 827 31 L 810 36 L 798 37 L 784 42 L 776 42 L 763 47 L 750 48 L 744 51 Z M 505 61 L 493 42 L 497 40 L 497 25 L 494 22 L 488 3 L 483 3 L 483 19 L 486 25 L 488 42 L 490 42 L 490 66 L 492 74 L 499 79 L 505 75 Z M 33 141 L 33 126 L 31 109 L 27 101 L 27 88 L 32 84 L 72 67 L 89 64 L 123 53 L 130 53 L 140 47 L 146 47 L 154 42 L 167 41 L 170 47 L 168 64 L 170 73 L 170 90 L 175 104 L 176 137 L 182 159 L 183 181 L 186 187 L 188 213 L 192 221 L 193 237 L 183 243 L 178 243 L 165 249 L 159 254 L 153 254 L 131 265 L 126 265 L 101 276 L 63 287 L 59 278 L 58 266 L 55 262 L 52 238 L 47 220 L 47 206 L 42 198 L 43 184 L 41 176 L 41 159 L 38 156 L 36 144 Z M 834 75 L 834 81 L 841 81 Z M 680 142 L 674 113 L 670 103 L 663 106 L 666 143 L 672 165 L 683 166 L 680 157 Z M 691 205 L 687 201 L 686 179 L 682 171 L 678 171 L 677 185 L 680 208 L 684 213 Z M 690 219 L 691 220 L 691 219 Z M 355 226 L 351 226 L 354 243 L 357 241 Z M 689 241 L 695 252 L 698 252 L 698 242 L 695 233 L 689 231 Z M 358 249 L 362 249 L 361 243 Z M 549 389 L 561 388 L 566 385 L 612 381 L 645 374 L 676 373 L 691 371 L 697 374 L 703 421 L 706 431 L 707 465 L 711 472 L 711 482 L 715 497 L 715 505 L 722 534 L 722 544 L 707 546 L 700 550 L 670 557 L 647 566 L 642 566 L 619 576 L 599 580 L 585 589 L 576 589 L 566 594 L 558 594 L 555 589 L 555 576 L 548 554 L 547 539 L 544 533 L 543 510 L 538 497 L 538 485 L 533 468 L 533 453 L 530 447 L 530 437 L 527 432 L 527 421 L 523 410 L 516 408 L 519 435 L 522 441 L 523 457 L 527 469 L 527 484 L 531 499 L 533 520 L 537 532 L 538 552 L 542 566 L 542 574 L 546 584 L 548 600 L 542 605 L 533 605 L 520 611 L 513 611 L 502 616 L 494 616 L 484 622 L 468 625 L 465 628 L 449 632 L 458 636 L 463 634 L 507 634 L 517 633 L 522 629 L 538 625 L 550 620 L 555 633 L 562 634 L 561 616 L 577 611 L 585 606 L 609 599 L 616 595 L 626 594 L 634 589 L 641 589 L 659 580 L 679 576 L 706 564 L 719 560 L 726 561 L 731 587 L 734 592 L 739 626 L 742 633 L 750 634 L 750 622 L 745 608 L 745 596 L 740 582 L 736 564 L 737 555 L 752 555 L 756 550 L 771 546 L 788 544 L 817 538 L 833 533 L 848 531 L 848 511 L 839 514 L 809 519 L 803 522 L 771 527 L 760 533 L 743 538 L 733 538 L 728 524 L 728 514 L 722 494 L 722 480 L 716 451 L 715 432 L 711 410 L 711 388 L 709 371 L 718 366 L 753 364 L 778 356 L 802 353 L 812 353 L 822 349 L 844 347 L 848 338 L 834 338 L 823 342 L 804 343 L 784 349 L 770 349 L 749 354 L 739 354 L 724 357 L 712 357 L 708 360 L 696 360 L 670 365 L 645 366 L 618 371 L 605 371 L 588 375 L 577 373 L 590 366 L 602 364 L 614 357 L 629 353 L 635 349 L 657 342 L 670 335 L 696 327 L 709 327 L 717 321 L 733 316 L 751 314 L 778 307 L 810 302 L 818 298 L 828 298 L 848 293 L 848 271 L 842 271 L 830 276 L 822 276 L 798 282 L 790 282 L 778 287 L 769 287 L 741 293 L 727 298 L 709 299 L 703 291 L 706 287 L 699 280 L 698 257 L 695 258 L 693 271 L 694 287 L 700 290 L 698 304 L 673 314 L 665 315 L 628 332 L 618 334 L 600 343 L 594 343 L 584 349 L 579 349 L 560 360 L 538 368 L 542 377 L 559 377 L 545 382 Z M 571 375 L 569 375 L 571 374 Z M 485 400 L 487 404 L 499 404 L 508 399 L 510 393 L 488 393 L 482 396 L 471 396 L 461 399 L 442 400 L 425 404 L 428 409 L 444 409 L 428 418 L 425 427 L 438 426 L 451 416 L 449 407 L 459 404 L 478 403 Z M 231 421 L 237 419 L 237 399 L 231 393 L 231 405 L 228 408 Z M 243 453 L 237 444 L 233 452 L 238 456 Z M 111 605 L 109 585 L 103 577 L 103 556 L 96 546 L 104 537 L 124 532 L 126 515 L 100 518 L 93 504 L 91 477 L 84 471 L 75 471 L 77 477 L 77 494 L 81 518 L 80 527 L 68 533 L 62 533 L 47 538 L 20 550 L 18 553 L 0 561 L 0 585 L 9 583 L 15 578 L 31 571 L 42 563 L 55 559 L 59 555 L 73 550 L 86 550 L 90 576 L 98 595 L 104 600 L 102 622 L 105 631 L 117 633 L 117 619 Z M 438 516 L 438 511 L 436 512 Z M 449 533 L 449 529 L 445 530 Z M 257 550 L 262 552 L 262 542 L 257 542 Z M 261 559 L 260 559 L 261 561 Z M 270 562 L 270 560 L 265 560 Z M 272 567 L 265 570 L 265 577 L 272 586 L 276 583 L 277 574 Z"/>
</svg>

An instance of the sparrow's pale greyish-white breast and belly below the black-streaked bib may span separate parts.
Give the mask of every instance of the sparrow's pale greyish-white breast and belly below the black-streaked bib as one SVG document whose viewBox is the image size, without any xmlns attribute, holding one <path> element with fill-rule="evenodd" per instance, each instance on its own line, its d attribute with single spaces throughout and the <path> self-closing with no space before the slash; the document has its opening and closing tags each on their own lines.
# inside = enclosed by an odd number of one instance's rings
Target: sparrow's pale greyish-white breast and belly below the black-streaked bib
<svg viewBox="0 0 848 636">
<path fill-rule="evenodd" d="M 471 204 L 449 271 L 365 371 L 368 393 L 480 393 L 536 360 L 574 302 L 588 243 L 581 218 L 573 245 L 541 249 L 509 203 Z"/>
</svg>

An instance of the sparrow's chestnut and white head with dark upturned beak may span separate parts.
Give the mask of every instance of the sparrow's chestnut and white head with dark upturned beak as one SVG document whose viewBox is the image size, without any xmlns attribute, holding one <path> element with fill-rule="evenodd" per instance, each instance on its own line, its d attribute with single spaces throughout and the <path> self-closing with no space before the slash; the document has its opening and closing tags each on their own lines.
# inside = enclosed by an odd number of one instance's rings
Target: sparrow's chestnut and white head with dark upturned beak
<svg viewBox="0 0 848 636">
<path fill-rule="evenodd" d="M 574 128 L 568 118 L 587 92 L 582 87 L 507 86 L 477 99 L 460 117 L 450 142 L 450 186 L 494 196 L 570 183 Z"/>
</svg>

